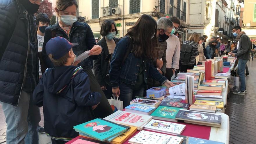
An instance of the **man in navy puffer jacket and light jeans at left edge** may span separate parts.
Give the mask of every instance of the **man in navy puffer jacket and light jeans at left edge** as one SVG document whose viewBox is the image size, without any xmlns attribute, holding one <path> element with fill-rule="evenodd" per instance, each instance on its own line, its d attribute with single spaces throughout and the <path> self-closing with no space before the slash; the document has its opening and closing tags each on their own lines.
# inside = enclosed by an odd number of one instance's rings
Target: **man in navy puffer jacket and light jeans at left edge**
<svg viewBox="0 0 256 144">
<path fill-rule="evenodd" d="M 39 81 L 34 13 L 42 0 L 1 0 L 0 101 L 7 144 L 38 144 L 40 111 L 32 104 Z"/>
</svg>

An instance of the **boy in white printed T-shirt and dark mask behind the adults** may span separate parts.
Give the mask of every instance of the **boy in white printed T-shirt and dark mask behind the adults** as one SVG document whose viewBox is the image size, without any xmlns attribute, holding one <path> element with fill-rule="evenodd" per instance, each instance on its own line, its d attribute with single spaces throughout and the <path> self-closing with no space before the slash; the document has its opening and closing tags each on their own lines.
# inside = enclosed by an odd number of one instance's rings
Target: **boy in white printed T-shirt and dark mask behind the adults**
<svg viewBox="0 0 256 144">
<path fill-rule="evenodd" d="M 43 43 L 44 43 L 44 35 L 45 35 L 45 29 L 47 26 L 50 24 L 50 19 L 47 16 L 46 13 L 39 13 L 35 16 L 35 24 L 37 26 L 37 40 L 38 40 L 38 56 L 39 56 L 39 77 L 42 77 L 42 70 L 41 70 L 41 51 L 43 48 Z M 38 133 L 42 134 L 45 133 L 45 129 L 38 125 Z"/>
</svg>

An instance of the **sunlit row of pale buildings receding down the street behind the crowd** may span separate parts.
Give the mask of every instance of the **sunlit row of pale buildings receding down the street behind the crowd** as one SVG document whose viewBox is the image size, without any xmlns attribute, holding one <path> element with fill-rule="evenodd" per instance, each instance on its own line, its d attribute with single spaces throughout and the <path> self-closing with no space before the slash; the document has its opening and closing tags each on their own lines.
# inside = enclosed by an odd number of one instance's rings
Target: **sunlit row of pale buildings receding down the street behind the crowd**
<svg viewBox="0 0 256 144">
<path fill-rule="evenodd" d="M 188 37 L 197 32 L 201 36 L 221 37 L 224 43 L 233 40 L 232 27 L 239 25 L 238 0 L 189 0 Z"/>
</svg>

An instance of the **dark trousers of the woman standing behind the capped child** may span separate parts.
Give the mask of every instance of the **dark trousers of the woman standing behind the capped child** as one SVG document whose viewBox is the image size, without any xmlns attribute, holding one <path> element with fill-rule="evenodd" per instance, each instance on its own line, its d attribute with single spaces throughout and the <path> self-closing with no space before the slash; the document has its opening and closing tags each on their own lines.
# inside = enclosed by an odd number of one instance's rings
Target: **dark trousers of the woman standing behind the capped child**
<svg viewBox="0 0 256 144">
<path fill-rule="evenodd" d="M 111 115 L 113 113 L 113 110 L 111 109 L 111 106 L 110 106 L 104 92 L 100 88 L 99 83 L 93 74 L 93 71 L 91 69 L 84 70 L 84 71 L 87 73 L 87 75 L 90 79 L 91 91 L 99 92 L 102 95 L 99 105 L 93 110 L 95 117 L 96 118 L 105 118 L 106 116 Z"/>
</svg>

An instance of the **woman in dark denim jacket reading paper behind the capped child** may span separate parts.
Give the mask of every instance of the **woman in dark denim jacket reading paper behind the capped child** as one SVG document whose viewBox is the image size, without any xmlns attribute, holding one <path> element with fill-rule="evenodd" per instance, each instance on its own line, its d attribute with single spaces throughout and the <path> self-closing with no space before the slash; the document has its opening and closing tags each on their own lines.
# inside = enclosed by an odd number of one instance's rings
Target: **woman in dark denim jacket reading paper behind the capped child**
<svg viewBox="0 0 256 144">
<path fill-rule="evenodd" d="M 102 55 L 103 50 L 100 45 L 96 45 L 93 32 L 90 26 L 86 23 L 77 21 L 77 1 L 76 0 L 57 0 L 56 1 L 56 14 L 59 17 L 57 24 L 50 25 L 45 30 L 44 44 L 42 49 L 42 58 L 47 67 L 53 67 L 53 64 L 47 57 L 45 51 L 46 43 L 54 37 L 60 36 L 66 38 L 71 43 L 78 43 L 79 45 L 73 46 L 73 52 L 79 56 L 85 51 L 90 50 L 90 57 L 98 59 Z M 83 70 L 88 74 L 90 79 L 90 88 L 92 92 L 99 92 L 102 95 L 100 104 L 94 109 L 96 117 L 104 118 L 113 113 L 109 102 L 106 99 L 103 91 L 101 90 L 93 71 L 91 70 L 91 61 L 86 58 L 83 61 L 76 61 L 73 65 L 82 66 Z"/>
</svg>

